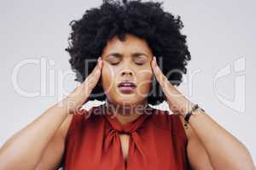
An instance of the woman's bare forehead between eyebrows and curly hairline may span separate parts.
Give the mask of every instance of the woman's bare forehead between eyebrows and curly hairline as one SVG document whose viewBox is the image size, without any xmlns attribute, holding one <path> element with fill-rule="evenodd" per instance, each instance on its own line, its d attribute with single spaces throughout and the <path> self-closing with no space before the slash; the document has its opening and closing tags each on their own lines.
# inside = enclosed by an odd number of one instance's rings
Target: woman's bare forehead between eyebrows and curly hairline
<svg viewBox="0 0 256 170">
<path fill-rule="evenodd" d="M 109 53 L 130 54 L 139 52 L 152 55 L 151 49 L 145 40 L 131 34 L 126 34 L 124 42 L 120 41 L 117 36 L 108 41 L 103 49 L 102 56 Z"/>
</svg>

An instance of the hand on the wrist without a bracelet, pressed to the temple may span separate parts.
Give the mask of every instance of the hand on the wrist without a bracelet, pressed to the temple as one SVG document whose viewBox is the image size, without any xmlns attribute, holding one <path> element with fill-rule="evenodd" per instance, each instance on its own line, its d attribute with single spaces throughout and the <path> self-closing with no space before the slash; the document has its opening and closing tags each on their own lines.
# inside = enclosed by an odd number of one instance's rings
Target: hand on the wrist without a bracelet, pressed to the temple
<svg viewBox="0 0 256 170">
<path fill-rule="evenodd" d="M 90 93 L 96 87 L 96 84 L 102 75 L 102 65 L 102 58 L 99 57 L 99 59 L 97 59 L 97 64 L 93 71 L 90 72 L 90 75 L 86 77 L 84 82 L 75 88 L 66 99 L 64 99 L 64 105 L 69 114 L 76 113 L 80 110 L 82 105 L 87 102 Z"/>
</svg>

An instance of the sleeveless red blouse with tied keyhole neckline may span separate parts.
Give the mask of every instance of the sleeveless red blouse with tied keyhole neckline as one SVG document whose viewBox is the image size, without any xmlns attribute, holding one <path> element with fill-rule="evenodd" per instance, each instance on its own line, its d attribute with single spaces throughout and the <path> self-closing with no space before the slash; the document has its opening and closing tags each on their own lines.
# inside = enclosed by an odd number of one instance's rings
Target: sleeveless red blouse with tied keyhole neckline
<svg viewBox="0 0 256 170">
<path fill-rule="evenodd" d="M 177 115 L 148 106 L 135 121 L 121 125 L 103 108 L 73 115 L 62 160 L 65 170 L 192 169 L 188 139 Z M 119 133 L 131 135 L 127 163 Z"/>
</svg>

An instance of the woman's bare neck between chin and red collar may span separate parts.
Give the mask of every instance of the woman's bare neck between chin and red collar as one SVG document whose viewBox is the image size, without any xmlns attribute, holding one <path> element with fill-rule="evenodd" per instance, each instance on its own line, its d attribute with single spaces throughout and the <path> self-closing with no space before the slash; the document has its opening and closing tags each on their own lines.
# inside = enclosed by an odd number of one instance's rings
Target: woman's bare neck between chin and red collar
<svg viewBox="0 0 256 170">
<path fill-rule="evenodd" d="M 137 105 L 115 105 L 107 100 L 107 109 L 110 111 L 122 125 L 133 122 L 138 116 L 143 114 L 144 109 L 148 105 L 148 101 L 144 100 Z"/>
</svg>

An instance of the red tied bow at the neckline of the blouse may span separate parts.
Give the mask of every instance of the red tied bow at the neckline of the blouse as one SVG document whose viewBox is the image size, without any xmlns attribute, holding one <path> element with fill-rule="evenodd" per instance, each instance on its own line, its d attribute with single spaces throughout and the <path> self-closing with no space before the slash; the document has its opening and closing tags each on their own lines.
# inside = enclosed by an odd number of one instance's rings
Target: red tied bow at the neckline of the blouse
<svg viewBox="0 0 256 170">
<path fill-rule="evenodd" d="M 124 125 L 119 122 L 115 115 L 109 112 L 105 112 L 103 114 L 109 122 L 107 127 L 107 136 L 103 145 L 105 150 L 108 150 L 108 154 L 111 157 L 112 162 L 115 162 L 113 164 L 115 164 L 116 167 L 113 167 L 113 169 L 132 169 L 132 165 L 135 163 L 134 161 L 147 160 L 147 156 L 145 154 L 146 151 L 143 149 L 143 139 L 139 131 L 143 129 L 146 124 L 144 122 L 147 120 L 148 116 L 152 115 L 153 111 L 154 108 L 147 106 L 137 119 Z M 127 161 L 125 161 L 122 154 L 119 133 L 127 133 L 130 135 Z"/>
</svg>

